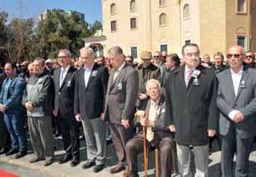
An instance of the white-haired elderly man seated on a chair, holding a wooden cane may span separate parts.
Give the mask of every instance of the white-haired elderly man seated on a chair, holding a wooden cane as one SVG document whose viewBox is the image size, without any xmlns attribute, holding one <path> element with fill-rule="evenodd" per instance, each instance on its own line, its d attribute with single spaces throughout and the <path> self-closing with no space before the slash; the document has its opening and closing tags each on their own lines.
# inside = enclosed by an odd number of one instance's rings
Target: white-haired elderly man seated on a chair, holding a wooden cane
<svg viewBox="0 0 256 177">
<path fill-rule="evenodd" d="M 137 111 L 136 125 L 140 127 L 140 133 L 126 144 L 128 168 L 123 177 L 138 177 L 137 157 L 143 151 L 143 132 L 141 127 L 146 126 L 146 146 L 154 146 L 160 149 L 161 176 L 171 175 L 171 148 L 173 147 L 174 134 L 170 132 L 170 121 L 165 117 L 165 96 L 161 94 L 160 82 L 154 79 L 146 83 L 147 94 L 150 100 L 145 111 Z"/>
</svg>

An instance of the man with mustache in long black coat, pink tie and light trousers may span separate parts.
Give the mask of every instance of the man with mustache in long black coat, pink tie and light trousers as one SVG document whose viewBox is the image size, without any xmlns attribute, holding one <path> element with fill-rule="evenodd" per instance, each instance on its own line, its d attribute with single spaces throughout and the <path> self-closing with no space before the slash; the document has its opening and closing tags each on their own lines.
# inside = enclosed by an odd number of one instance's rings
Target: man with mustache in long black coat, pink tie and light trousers
<svg viewBox="0 0 256 177">
<path fill-rule="evenodd" d="M 199 65 L 199 47 L 182 48 L 185 66 L 170 73 L 166 84 L 166 116 L 175 131 L 179 171 L 192 176 L 190 147 L 193 147 L 195 176 L 208 176 L 209 137 L 217 128 L 217 85 L 214 71 Z"/>
</svg>

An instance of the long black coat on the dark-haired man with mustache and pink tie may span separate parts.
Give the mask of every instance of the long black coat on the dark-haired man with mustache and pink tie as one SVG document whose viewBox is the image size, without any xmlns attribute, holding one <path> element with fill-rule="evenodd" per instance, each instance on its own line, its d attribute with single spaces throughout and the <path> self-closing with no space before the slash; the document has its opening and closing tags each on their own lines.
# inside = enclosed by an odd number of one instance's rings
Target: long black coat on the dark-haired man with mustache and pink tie
<svg viewBox="0 0 256 177">
<path fill-rule="evenodd" d="M 217 129 L 217 83 L 214 71 L 204 66 L 200 71 L 199 86 L 193 77 L 185 86 L 185 66 L 171 72 L 166 84 L 166 116 L 175 125 L 175 140 L 180 145 L 208 144 L 208 129 Z"/>
</svg>

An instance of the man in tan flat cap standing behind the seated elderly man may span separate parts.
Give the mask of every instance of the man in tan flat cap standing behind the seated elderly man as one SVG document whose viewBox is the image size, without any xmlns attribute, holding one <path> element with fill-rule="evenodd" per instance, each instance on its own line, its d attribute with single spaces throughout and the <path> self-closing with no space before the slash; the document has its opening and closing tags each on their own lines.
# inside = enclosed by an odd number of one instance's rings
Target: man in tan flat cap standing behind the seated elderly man
<svg viewBox="0 0 256 177">
<path fill-rule="evenodd" d="M 150 79 L 160 81 L 160 68 L 151 63 L 152 54 L 149 51 L 143 51 L 140 54 L 142 65 L 138 66 L 139 74 L 139 96 L 137 106 L 139 109 L 143 109 L 146 106 L 148 96 L 146 95 L 145 84 Z"/>
</svg>

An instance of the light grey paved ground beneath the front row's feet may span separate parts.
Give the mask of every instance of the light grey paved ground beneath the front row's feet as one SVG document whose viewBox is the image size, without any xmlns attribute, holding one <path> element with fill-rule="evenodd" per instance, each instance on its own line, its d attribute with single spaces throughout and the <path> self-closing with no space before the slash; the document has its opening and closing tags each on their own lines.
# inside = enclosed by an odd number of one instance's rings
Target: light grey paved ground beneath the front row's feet
<svg viewBox="0 0 256 177">
<path fill-rule="evenodd" d="M 59 149 L 56 150 L 56 162 L 48 167 L 44 167 L 42 162 L 38 162 L 35 164 L 29 164 L 28 161 L 33 157 L 32 151 L 30 149 L 29 155 L 23 157 L 20 160 L 15 160 L 14 155 L 5 156 L 0 155 L 0 169 L 7 170 L 16 175 L 20 175 L 21 177 L 78 177 L 78 176 L 90 176 L 90 177 L 115 177 L 122 176 L 122 173 L 111 175 L 109 173 L 109 169 L 112 165 L 116 163 L 116 154 L 112 145 L 107 145 L 107 163 L 106 169 L 102 170 L 100 173 L 93 173 L 92 169 L 82 170 L 81 165 L 83 161 L 86 160 L 86 149 L 81 148 L 81 164 L 71 168 L 69 163 L 64 165 L 59 165 L 57 160 L 62 157 L 64 151 L 62 150 L 62 140 L 60 138 L 55 140 L 56 146 Z M 81 147 L 84 147 L 84 142 L 82 142 Z M 209 156 L 209 177 L 219 177 L 220 176 L 220 152 L 217 149 L 216 145 L 214 146 L 215 152 Z M 143 176 L 143 156 L 139 156 L 139 169 L 140 176 Z M 154 174 L 154 158 L 153 154 L 150 153 L 150 167 L 149 167 L 149 175 L 155 176 Z M 173 175 L 174 176 L 174 175 Z M 254 151 L 250 155 L 250 175 L 249 177 L 256 176 L 256 145 L 254 145 Z"/>
</svg>

